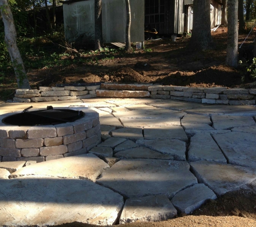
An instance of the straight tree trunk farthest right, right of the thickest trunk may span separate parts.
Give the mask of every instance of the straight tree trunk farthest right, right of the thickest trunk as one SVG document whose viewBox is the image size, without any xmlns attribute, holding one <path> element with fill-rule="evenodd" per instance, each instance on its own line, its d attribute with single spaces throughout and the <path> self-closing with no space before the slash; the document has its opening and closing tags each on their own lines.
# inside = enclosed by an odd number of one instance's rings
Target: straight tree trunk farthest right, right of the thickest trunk
<svg viewBox="0 0 256 227">
<path fill-rule="evenodd" d="M 238 0 L 230 0 L 227 10 L 227 56 L 226 64 L 237 67 L 238 60 Z"/>
</svg>

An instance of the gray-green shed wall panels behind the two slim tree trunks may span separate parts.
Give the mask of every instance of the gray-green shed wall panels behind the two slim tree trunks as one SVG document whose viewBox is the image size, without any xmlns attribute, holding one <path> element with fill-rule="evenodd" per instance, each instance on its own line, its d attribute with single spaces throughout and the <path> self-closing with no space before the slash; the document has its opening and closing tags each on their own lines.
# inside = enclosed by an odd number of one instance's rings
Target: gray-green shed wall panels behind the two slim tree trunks
<svg viewBox="0 0 256 227">
<path fill-rule="evenodd" d="M 144 41 L 144 0 L 130 0 L 132 42 Z M 63 4 L 65 38 L 74 41 L 81 34 L 94 39 L 94 0 Z M 125 42 L 126 3 L 102 0 L 103 42 Z"/>
</svg>

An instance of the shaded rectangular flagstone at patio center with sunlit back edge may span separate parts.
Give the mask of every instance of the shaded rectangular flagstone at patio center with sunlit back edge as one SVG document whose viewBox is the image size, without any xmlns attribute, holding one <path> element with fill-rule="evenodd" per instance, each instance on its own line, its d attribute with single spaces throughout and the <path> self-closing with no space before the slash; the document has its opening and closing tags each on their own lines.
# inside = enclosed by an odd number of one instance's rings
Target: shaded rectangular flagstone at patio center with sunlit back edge
<svg viewBox="0 0 256 227">
<path fill-rule="evenodd" d="M 144 139 L 179 139 L 188 142 L 188 137 L 181 126 L 144 127 Z"/>
</svg>

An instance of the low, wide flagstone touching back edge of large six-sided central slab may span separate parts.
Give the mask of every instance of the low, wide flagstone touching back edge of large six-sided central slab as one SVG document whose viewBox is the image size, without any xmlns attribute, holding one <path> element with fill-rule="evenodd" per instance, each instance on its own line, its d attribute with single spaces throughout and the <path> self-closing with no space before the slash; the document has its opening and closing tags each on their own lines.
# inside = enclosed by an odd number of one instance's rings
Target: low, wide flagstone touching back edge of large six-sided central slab
<svg viewBox="0 0 256 227">
<path fill-rule="evenodd" d="M 114 155 L 117 158 L 125 159 L 165 159 L 165 160 L 174 160 L 174 157 L 169 154 L 161 154 L 156 151 L 152 151 L 147 147 L 135 147 L 129 150 L 124 150 L 115 153 Z"/>
</svg>

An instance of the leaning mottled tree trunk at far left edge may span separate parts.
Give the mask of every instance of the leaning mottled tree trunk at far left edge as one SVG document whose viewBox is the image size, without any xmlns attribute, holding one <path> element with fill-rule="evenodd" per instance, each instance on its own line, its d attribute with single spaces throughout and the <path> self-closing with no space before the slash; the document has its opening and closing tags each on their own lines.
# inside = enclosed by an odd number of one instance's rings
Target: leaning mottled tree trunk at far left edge
<svg viewBox="0 0 256 227">
<path fill-rule="evenodd" d="M 0 11 L 4 23 L 4 41 L 11 57 L 18 88 L 30 89 L 29 80 L 27 80 L 23 60 L 17 47 L 17 33 L 8 0 L 0 1 Z"/>
</svg>

